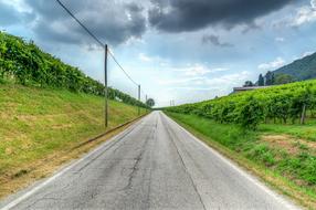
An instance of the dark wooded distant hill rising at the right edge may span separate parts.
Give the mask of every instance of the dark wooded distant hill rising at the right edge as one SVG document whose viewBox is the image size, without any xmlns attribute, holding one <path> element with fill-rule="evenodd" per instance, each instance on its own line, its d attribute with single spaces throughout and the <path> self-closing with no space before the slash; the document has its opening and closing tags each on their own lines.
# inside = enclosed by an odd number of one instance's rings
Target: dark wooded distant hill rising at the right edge
<svg viewBox="0 0 316 210">
<path fill-rule="evenodd" d="M 293 63 L 273 71 L 275 75 L 287 74 L 296 81 L 304 81 L 316 77 L 316 53 L 296 60 Z"/>
</svg>

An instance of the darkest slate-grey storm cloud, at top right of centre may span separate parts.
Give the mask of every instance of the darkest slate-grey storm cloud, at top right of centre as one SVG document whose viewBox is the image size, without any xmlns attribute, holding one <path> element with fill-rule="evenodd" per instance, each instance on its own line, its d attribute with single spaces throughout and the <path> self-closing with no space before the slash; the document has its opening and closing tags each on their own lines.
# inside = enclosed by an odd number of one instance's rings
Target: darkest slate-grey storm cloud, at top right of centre
<svg viewBox="0 0 316 210">
<path fill-rule="evenodd" d="M 231 29 L 252 24 L 255 18 L 276 11 L 294 0 L 151 0 L 149 22 L 168 32 L 193 31 L 208 25 Z"/>
</svg>

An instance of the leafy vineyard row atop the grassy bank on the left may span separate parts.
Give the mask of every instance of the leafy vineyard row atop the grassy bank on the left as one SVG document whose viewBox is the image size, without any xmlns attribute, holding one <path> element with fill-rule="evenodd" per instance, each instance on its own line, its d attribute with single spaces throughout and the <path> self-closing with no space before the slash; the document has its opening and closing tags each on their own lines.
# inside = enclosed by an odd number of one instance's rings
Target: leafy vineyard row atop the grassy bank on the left
<svg viewBox="0 0 316 210">
<path fill-rule="evenodd" d="M 63 63 L 60 59 L 45 53 L 33 41 L 0 32 L 0 83 L 13 83 L 65 88 L 98 96 L 104 95 L 104 85 L 77 67 Z M 108 88 L 108 98 L 146 107 L 136 98 L 115 88 Z"/>
</svg>

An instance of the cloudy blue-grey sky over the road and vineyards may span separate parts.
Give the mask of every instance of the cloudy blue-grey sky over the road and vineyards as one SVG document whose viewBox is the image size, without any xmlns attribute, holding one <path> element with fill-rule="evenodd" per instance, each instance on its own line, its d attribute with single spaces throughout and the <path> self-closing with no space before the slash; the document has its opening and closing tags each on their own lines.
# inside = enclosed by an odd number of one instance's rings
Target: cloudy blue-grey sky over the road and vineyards
<svg viewBox="0 0 316 210">
<path fill-rule="evenodd" d="M 316 50 L 316 0 L 62 0 L 156 106 L 227 95 Z M 0 0 L 0 30 L 103 82 L 104 51 L 54 0 Z M 108 59 L 109 85 L 137 97 Z"/>
</svg>

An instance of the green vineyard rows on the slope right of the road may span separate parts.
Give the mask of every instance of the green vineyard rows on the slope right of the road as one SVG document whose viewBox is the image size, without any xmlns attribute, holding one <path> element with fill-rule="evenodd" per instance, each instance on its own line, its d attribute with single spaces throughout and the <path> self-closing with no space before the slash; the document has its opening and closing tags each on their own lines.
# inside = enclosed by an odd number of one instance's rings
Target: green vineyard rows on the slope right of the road
<svg viewBox="0 0 316 210">
<path fill-rule="evenodd" d="M 199 115 L 221 124 L 239 124 L 247 129 L 256 129 L 261 123 L 305 124 L 316 117 L 316 81 L 236 93 L 166 109 Z"/>
</svg>

